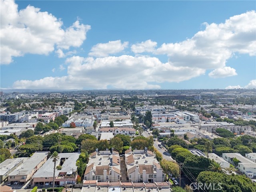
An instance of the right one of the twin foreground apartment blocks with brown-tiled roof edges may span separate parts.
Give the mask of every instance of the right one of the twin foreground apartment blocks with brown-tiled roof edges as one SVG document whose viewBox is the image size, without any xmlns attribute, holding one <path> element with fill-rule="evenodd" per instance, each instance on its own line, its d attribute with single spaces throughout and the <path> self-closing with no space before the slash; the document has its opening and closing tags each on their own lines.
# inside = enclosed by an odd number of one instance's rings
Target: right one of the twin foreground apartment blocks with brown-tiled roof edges
<svg viewBox="0 0 256 192">
<path fill-rule="evenodd" d="M 129 182 L 163 182 L 164 173 L 156 160 L 154 153 L 149 150 L 126 150 L 125 164 Z"/>
</svg>

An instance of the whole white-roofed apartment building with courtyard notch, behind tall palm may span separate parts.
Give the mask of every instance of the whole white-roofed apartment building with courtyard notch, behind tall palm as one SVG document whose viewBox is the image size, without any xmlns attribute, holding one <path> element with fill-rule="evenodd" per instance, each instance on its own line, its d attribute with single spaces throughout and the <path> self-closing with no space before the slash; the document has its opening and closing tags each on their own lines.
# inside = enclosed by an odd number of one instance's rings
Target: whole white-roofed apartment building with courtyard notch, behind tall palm
<svg viewBox="0 0 256 192">
<path fill-rule="evenodd" d="M 59 153 L 59 159 L 56 166 L 61 166 L 61 169 L 55 170 L 54 182 L 55 185 L 63 185 L 75 183 L 77 178 L 76 160 L 80 153 Z M 54 162 L 49 158 L 46 163 L 34 174 L 32 185 L 49 185 L 53 182 Z"/>
</svg>

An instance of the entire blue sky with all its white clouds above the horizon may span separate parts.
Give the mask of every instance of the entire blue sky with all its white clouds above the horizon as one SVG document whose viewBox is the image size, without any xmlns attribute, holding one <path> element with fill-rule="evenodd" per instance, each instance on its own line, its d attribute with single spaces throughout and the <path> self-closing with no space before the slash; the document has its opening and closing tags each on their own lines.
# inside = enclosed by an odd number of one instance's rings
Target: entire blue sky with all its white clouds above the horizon
<svg viewBox="0 0 256 192">
<path fill-rule="evenodd" d="M 1 4 L 1 88 L 256 88 L 255 1 Z"/>
</svg>

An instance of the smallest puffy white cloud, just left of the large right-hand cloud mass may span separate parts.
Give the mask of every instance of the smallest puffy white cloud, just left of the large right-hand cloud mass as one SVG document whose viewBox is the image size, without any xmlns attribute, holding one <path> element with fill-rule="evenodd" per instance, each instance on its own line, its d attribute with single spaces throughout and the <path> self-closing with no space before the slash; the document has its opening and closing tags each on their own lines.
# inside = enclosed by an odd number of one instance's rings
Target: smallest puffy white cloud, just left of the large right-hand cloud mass
<svg viewBox="0 0 256 192">
<path fill-rule="evenodd" d="M 157 42 L 151 41 L 149 39 L 141 43 L 133 44 L 131 46 L 131 50 L 134 53 L 154 52 L 156 46 Z"/>
</svg>

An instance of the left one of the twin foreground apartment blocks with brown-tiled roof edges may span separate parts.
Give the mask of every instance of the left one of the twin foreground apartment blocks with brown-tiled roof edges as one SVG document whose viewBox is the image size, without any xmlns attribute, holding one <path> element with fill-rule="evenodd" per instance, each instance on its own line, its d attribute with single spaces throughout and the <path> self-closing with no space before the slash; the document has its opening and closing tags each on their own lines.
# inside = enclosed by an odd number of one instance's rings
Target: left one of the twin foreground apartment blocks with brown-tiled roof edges
<svg viewBox="0 0 256 192">
<path fill-rule="evenodd" d="M 110 150 L 96 151 L 90 155 L 84 180 L 97 180 L 98 182 L 120 182 L 121 168 L 118 152 Z"/>
</svg>

